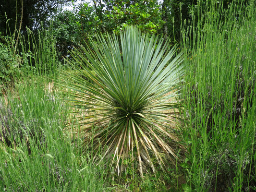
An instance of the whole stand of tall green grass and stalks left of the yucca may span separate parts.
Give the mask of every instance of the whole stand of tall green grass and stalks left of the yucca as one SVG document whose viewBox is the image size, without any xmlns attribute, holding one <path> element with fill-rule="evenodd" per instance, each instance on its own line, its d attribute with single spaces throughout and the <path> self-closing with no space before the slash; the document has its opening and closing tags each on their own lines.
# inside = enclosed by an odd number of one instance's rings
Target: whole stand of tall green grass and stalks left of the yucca
<svg viewBox="0 0 256 192">
<path fill-rule="evenodd" d="M 103 166 L 93 164 L 90 147 L 79 137 L 73 142 L 65 130 L 70 108 L 55 85 L 55 39 L 50 30 L 38 44 L 33 34 L 28 39 L 16 52 L 23 72 L 13 74 L 12 89 L 0 97 L 0 191 L 106 191 Z"/>
</svg>

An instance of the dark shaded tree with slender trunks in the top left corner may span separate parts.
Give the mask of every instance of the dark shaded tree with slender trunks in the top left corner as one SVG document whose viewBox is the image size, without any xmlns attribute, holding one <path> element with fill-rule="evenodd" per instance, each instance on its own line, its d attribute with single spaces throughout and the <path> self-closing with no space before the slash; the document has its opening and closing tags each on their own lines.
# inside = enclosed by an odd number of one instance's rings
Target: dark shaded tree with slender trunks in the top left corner
<svg viewBox="0 0 256 192">
<path fill-rule="evenodd" d="M 10 19 L 8 24 L 11 33 L 14 33 L 15 27 L 17 29 L 17 23 L 19 24 L 20 21 L 22 21 L 22 33 L 26 31 L 26 27 L 36 32 L 41 23 L 46 24 L 51 14 L 69 1 L 71 0 L 1 0 L 0 31 L 3 32 L 3 35 L 7 35 L 7 17 Z"/>
</svg>

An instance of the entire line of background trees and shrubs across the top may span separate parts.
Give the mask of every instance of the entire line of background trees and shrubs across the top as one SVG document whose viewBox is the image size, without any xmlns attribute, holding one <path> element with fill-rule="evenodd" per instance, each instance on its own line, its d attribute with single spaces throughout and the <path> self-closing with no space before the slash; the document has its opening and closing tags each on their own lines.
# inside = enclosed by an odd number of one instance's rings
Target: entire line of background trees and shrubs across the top
<svg viewBox="0 0 256 192">
<path fill-rule="evenodd" d="M 25 35 L 27 28 L 38 36 L 39 29 L 47 29 L 51 25 L 61 60 L 68 55 L 70 49 L 81 42 L 87 42 L 96 33 L 118 33 L 122 27 L 132 24 L 150 33 L 163 34 L 166 40 L 170 40 L 170 44 L 174 41 L 177 43 L 181 39 L 181 24 L 186 27 L 192 17 L 202 16 L 202 12 L 197 12 L 198 7 L 204 10 L 209 2 L 91 0 L 76 3 L 76 0 L 1 0 L 0 42 L 6 41 L 4 36 L 13 36 L 17 44 L 18 34 Z M 239 4 L 240 1 L 237 2 Z M 72 10 L 63 9 L 67 3 L 72 4 Z M 224 0 L 223 10 L 228 9 L 230 3 L 230 0 Z"/>
</svg>

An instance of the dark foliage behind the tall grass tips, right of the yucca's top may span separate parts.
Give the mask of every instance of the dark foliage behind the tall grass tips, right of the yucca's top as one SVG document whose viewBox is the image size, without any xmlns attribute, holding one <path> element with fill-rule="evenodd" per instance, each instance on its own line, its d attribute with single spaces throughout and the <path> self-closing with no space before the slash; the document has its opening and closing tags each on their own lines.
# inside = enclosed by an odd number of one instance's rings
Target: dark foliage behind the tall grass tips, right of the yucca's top
<svg viewBox="0 0 256 192">
<path fill-rule="evenodd" d="M 211 4 L 214 2 L 215 4 Z M 237 12 L 233 12 L 235 16 L 243 17 L 246 12 L 246 5 L 249 0 L 235 0 L 233 4 L 236 5 L 236 9 L 239 10 Z M 187 25 L 193 25 L 194 30 L 198 24 L 204 25 L 205 18 L 207 14 L 214 14 L 210 12 L 213 8 L 211 6 L 218 7 L 219 13 L 216 15 L 218 17 L 219 22 L 225 22 L 227 19 L 224 15 L 225 12 L 228 12 L 230 9 L 230 5 L 232 0 L 163 0 L 162 3 L 162 17 L 166 23 L 163 25 L 163 33 L 169 35 L 175 39 L 176 42 L 180 42 L 181 40 L 181 29 L 186 27 Z M 217 19 L 217 18 L 216 18 Z M 198 23 L 198 21 L 200 21 Z M 189 41 L 193 42 L 193 34 L 195 31 L 190 29 L 190 38 Z"/>
</svg>

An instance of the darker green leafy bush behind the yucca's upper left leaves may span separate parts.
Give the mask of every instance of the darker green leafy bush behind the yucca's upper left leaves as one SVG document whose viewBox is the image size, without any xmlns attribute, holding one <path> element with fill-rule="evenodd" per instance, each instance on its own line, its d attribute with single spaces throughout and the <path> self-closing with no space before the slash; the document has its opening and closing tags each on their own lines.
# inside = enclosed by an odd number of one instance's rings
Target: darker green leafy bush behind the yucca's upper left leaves
<svg viewBox="0 0 256 192">
<path fill-rule="evenodd" d="M 73 4 L 73 10 L 58 13 L 50 21 L 56 38 L 56 48 L 59 59 L 68 55 L 68 52 L 79 43 L 87 42 L 90 36 L 98 32 L 99 21 L 96 19 L 95 9 L 88 4 Z"/>
</svg>

